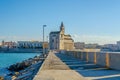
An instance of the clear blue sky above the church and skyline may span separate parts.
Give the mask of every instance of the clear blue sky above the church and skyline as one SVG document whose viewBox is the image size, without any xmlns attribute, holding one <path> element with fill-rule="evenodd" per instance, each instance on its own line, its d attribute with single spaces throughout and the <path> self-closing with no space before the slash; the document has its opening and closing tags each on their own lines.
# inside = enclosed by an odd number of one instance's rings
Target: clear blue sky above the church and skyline
<svg viewBox="0 0 120 80">
<path fill-rule="evenodd" d="M 120 40 L 120 0 L 0 0 L 0 41 L 42 41 L 61 22 L 75 42 Z"/>
</svg>

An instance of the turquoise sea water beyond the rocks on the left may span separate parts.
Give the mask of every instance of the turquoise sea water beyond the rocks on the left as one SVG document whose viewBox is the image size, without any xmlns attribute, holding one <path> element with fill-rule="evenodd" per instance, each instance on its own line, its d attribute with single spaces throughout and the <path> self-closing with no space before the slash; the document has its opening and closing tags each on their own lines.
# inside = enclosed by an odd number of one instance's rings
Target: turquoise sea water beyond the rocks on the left
<svg viewBox="0 0 120 80">
<path fill-rule="evenodd" d="M 8 67 L 40 54 L 41 53 L 0 53 L 0 68 Z"/>
</svg>

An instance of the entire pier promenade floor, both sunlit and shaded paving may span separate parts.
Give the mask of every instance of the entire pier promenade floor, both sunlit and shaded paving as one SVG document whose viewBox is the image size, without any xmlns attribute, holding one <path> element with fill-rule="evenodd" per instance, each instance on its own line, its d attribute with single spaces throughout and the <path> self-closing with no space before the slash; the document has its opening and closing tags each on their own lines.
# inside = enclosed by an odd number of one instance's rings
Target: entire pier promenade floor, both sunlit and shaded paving
<svg viewBox="0 0 120 80">
<path fill-rule="evenodd" d="M 120 71 L 51 52 L 34 80 L 120 80 Z"/>
</svg>

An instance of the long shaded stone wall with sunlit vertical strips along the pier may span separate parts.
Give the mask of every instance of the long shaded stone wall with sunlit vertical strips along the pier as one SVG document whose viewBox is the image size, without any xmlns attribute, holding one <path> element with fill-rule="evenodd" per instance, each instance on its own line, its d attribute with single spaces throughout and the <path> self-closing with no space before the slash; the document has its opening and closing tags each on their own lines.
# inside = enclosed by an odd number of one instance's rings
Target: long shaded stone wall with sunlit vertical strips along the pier
<svg viewBox="0 0 120 80">
<path fill-rule="evenodd" d="M 83 61 L 92 62 L 107 68 L 120 70 L 120 53 L 82 51 L 66 51 L 65 53 Z"/>
</svg>

